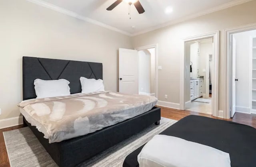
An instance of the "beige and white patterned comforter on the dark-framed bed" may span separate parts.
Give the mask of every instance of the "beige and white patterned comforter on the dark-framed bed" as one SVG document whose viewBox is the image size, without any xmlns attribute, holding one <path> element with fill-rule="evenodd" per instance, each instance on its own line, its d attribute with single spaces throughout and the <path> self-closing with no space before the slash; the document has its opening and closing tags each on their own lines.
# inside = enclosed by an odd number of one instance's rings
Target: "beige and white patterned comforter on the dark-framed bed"
<svg viewBox="0 0 256 167">
<path fill-rule="evenodd" d="M 105 91 L 24 100 L 18 106 L 26 120 L 54 143 L 143 114 L 156 102 L 153 96 Z"/>
</svg>

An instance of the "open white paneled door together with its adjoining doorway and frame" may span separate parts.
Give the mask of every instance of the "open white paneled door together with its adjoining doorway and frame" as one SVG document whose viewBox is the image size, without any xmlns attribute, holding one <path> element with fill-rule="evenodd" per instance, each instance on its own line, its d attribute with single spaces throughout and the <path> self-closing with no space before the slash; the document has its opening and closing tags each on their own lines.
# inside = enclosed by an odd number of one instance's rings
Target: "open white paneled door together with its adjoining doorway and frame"
<svg viewBox="0 0 256 167">
<path fill-rule="evenodd" d="M 157 97 L 157 44 L 118 53 L 118 91 Z"/>
</svg>

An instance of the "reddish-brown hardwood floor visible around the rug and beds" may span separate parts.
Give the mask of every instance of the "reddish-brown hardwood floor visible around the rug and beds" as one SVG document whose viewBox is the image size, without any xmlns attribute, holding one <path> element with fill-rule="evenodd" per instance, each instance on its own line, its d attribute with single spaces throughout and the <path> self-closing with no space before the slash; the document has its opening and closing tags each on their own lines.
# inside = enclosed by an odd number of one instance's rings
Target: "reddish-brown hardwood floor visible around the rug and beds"
<svg viewBox="0 0 256 167">
<path fill-rule="evenodd" d="M 182 111 L 182 110 L 176 110 L 176 109 L 171 109 L 171 108 L 166 108 L 166 107 L 160 107 L 161 108 L 161 116 L 170 118 L 173 120 L 180 120 L 188 115 L 199 115 L 199 116 L 206 116 L 210 118 L 215 118 L 215 119 L 220 119 L 224 120 L 223 118 L 217 118 L 208 114 L 202 114 L 198 112 L 193 112 L 193 111 Z M 252 126 L 256 128 L 256 114 L 243 114 L 243 113 L 236 113 L 234 115 L 233 119 L 229 119 L 228 121 L 232 122 L 237 122 L 240 124 L 246 124 L 249 126 Z M 15 130 L 22 128 L 23 125 L 20 126 L 14 126 L 11 128 L 6 128 L 0 130 L 0 167 L 10 167 L 7 151 L 6 151 L 6 146 L 4 143 L 4 136 L 3 132 L 9 131 L 9 130 Z"/>
</svg>

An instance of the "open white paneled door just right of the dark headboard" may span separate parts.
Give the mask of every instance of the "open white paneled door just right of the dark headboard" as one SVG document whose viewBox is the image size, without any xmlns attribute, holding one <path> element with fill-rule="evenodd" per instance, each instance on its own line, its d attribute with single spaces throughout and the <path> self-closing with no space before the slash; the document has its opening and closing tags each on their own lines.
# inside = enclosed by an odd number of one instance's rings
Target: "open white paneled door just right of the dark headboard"
<svg viewBox="0 0 256 167">
<path fill-rule="evenodd" d="M 119 92 L 138 94 L 138 51 L 119 49 Z"/>
</svg>

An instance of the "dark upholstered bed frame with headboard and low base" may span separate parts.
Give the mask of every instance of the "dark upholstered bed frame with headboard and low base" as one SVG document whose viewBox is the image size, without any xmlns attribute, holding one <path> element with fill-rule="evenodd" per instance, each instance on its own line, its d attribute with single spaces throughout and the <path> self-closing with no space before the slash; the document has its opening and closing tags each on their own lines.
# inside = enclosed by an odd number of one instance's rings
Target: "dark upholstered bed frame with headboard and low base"
<svg viewBox="0 0 256 167">
<path fill-rule="evenodd" d="M 71 94 L 81 92 L 80 77 L 102 79 L 102 63 L 23 57 L 22 67 L 24 100 L 36 98 L 34 80 L 37 78 L 44 80 L 67 79 L 70 81 Z M 32 130 L 60 167 L 73 167 L 139 133 L 151 124 L 158 125 L 160 115 L 160 108 L 154 107 L 152 110 L 124 122 L 57 143 L 49 143 L 48 139 L 43 137 L 44 134 L 28 123 L 24 117 L 23 122 L 24 126 L 27 125 Z"/>
</svg>

